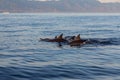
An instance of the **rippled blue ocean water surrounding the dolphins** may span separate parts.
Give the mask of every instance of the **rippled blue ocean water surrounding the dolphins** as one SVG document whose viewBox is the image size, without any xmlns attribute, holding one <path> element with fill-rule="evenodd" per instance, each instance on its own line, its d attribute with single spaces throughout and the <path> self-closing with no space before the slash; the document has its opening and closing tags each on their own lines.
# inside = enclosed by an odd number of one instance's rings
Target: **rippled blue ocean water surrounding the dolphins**
<svg viewBox="0 0 120 80">
<path fill-rule="evenodd" d="M 61 33 L 94 42 L 39 41 Z M 120 15 L 0 14 L 0 80 L 120 80 Z"/>
</svg>

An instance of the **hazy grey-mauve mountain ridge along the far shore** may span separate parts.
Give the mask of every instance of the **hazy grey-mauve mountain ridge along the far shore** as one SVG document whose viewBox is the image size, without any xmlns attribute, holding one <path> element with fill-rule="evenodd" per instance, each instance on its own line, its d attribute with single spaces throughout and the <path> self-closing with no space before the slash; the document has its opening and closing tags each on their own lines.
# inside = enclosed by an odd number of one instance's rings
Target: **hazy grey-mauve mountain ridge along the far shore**
<svg viewBox="0 0 120 80">
<path fill-rule="evenodd" d="M 0 0 L 0 12 L 120 12 L 120 3 L 97 0 L 28 1 Z"/>
</svg>

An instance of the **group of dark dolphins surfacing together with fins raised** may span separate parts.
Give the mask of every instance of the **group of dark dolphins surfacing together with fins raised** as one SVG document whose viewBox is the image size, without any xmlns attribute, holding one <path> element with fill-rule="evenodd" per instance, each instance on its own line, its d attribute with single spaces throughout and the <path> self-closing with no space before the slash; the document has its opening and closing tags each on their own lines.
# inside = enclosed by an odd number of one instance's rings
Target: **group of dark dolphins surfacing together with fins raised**
<svg viewBox="0 0 120 80">
<path fill-rule="evenodd" d="M 70 46 L 81 46 L 81 45 L 89 43 L 89 40 L 81 39 L 80 34 L 78 34 L 77 36 L 63 37 L 63 33 L 60 34 L 59 36 L 55 36 L 55 38 L 53 38 L 53 39 L 50 39 L 50 38 L 42 39 L 42 38 L 40 38 L 40 41 L 57 42 L 57 43 L 59 43 L 59 46 L 62 46 L 62 43 L 67 43 Z"/>
</svg>

